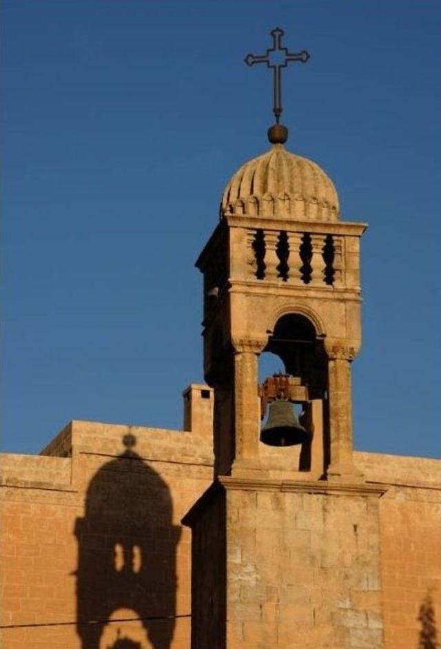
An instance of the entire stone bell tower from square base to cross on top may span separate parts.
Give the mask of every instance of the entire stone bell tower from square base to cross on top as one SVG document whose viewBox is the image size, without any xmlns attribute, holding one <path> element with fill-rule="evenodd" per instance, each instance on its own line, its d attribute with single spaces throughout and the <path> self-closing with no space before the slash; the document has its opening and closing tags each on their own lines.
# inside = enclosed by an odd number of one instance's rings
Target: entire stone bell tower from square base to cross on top
<svg viewBox="0 0 441 649">
<path fill-rule="evenodd" d="M 269 150 L 232 176 L 196 266 L 214 482 L 192 528 L 192 649 L 382 649 L 378 498 L 353 458 L 360 238 L 316 163 L 285 148 L 274 71 Z M 282 63 L 274 59 L 282 56 Z M 283 59 L 285 56 L 285 59 Z M 265 353 L 278 373 L 260 376 Z M 361 631 L 360 631 L 361 628 Z"/>
</svg>

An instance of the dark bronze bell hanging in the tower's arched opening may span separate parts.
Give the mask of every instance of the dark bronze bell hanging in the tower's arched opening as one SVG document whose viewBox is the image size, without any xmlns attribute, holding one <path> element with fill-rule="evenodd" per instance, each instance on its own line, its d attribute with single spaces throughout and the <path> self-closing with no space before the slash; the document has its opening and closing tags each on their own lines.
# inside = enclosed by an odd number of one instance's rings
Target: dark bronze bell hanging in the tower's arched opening
<svg viewBox="0 0 441 649">
<path fill-rule="evenodd" d="M 268 446 L 293 446 L 308 439 L 309 433 L 298 421 L 289 401 L 276 400 L 269 404 L 268 420 L 260 431 L 260 442 Z"/>
</svg>

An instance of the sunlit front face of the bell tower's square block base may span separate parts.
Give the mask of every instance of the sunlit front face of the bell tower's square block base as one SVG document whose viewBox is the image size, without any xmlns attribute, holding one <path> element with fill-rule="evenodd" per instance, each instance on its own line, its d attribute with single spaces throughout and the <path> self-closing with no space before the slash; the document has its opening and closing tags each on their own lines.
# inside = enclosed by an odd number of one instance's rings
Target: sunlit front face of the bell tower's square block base
<svg viewBox="0 0 441 649">
<path fill-rule="evenodd" d="M 227 646 L 380 649 L 378 495 L 230 489 Z"/>
</svg>

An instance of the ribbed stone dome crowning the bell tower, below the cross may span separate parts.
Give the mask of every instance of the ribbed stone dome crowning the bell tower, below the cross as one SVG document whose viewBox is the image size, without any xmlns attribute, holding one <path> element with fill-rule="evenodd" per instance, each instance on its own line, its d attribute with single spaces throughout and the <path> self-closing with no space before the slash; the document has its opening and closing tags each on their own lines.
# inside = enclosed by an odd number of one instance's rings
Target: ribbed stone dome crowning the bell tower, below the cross
<svg viewBox="0 0 441 649">
<path fill-rule="evenodd" d="M 240 167 L 223 193 L 224 215 L 336 221 L 338 194 L 316 163 L 276 144 Z"/>
</svg>

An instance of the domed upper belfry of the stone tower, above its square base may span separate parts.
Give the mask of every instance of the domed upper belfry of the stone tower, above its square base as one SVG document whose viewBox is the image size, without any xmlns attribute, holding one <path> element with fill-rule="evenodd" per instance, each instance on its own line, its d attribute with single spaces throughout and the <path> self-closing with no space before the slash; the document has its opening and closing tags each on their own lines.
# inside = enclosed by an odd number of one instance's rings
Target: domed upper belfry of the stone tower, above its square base
<svg viewBox="0 0 441 649">
<path fill-rule="evenodd" d="M 340 220 L 333 183 L 316 163 L 287 151 L 286 138 L 285 127 L 271 127 L 270 150 L 234 174 L 196 262 L 216 473 L 283 471 L 287 457 L 294 462 L 291 451 L 270 459 L 260 441 L 263 403 L 277 396 L 274 385 L 267 385 L 272 397 L 258 385 L 259 356 L 269 351 L 290 377 L 279 396 L 303 406 L 303 455 L 314 451 L 308 466 L 289 471 L 353 480 L 351 362 L 361 342 L 359 250 L 367 226 Z"/>
</svg>

